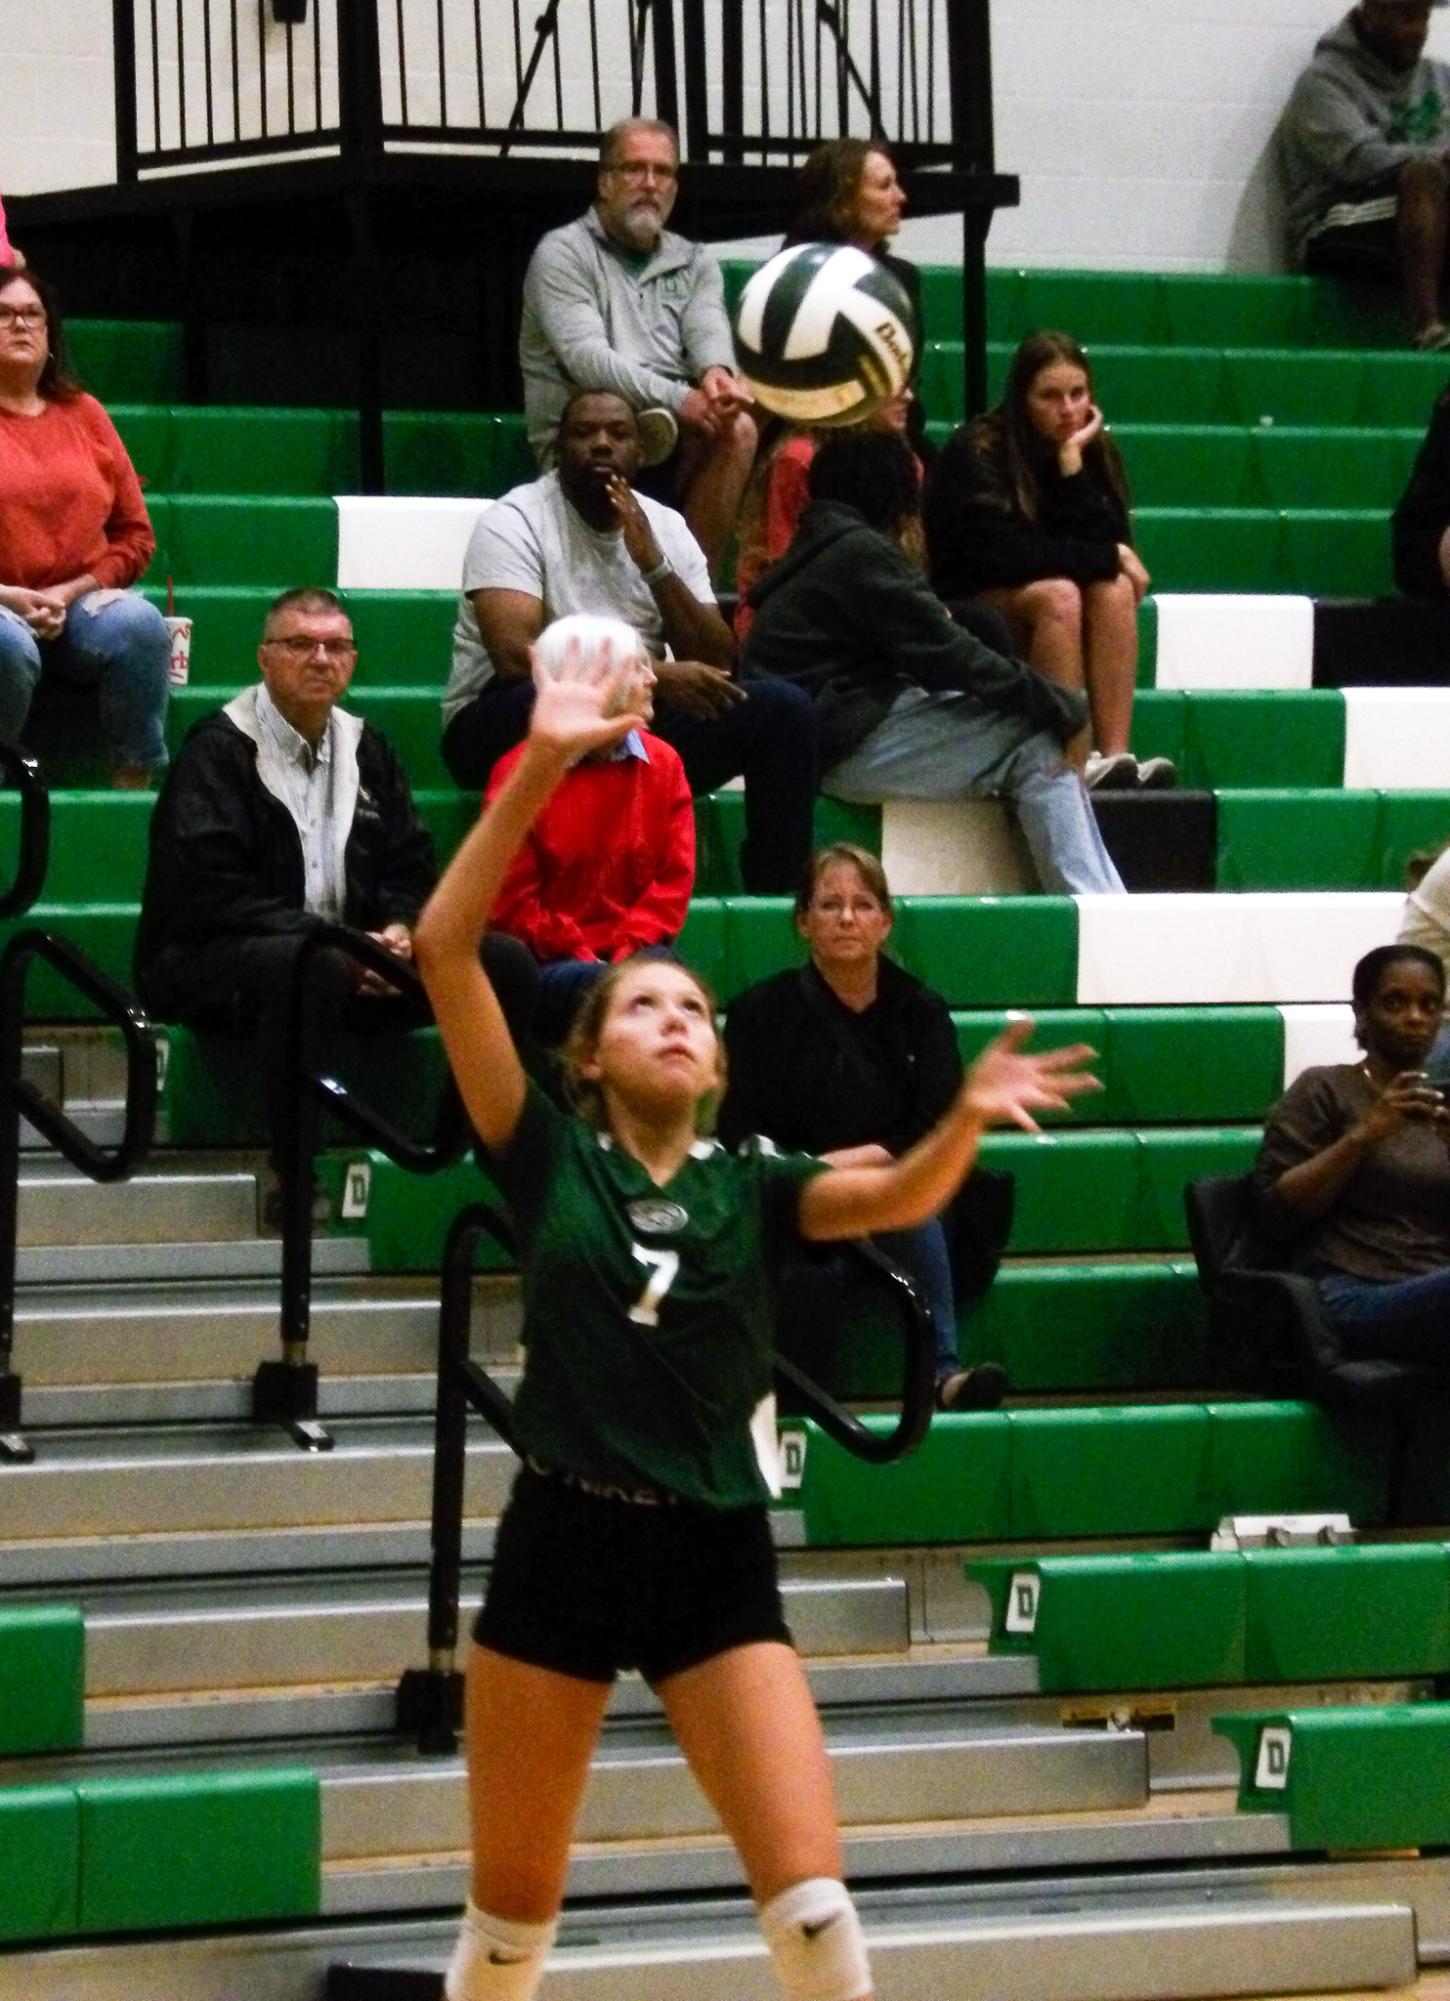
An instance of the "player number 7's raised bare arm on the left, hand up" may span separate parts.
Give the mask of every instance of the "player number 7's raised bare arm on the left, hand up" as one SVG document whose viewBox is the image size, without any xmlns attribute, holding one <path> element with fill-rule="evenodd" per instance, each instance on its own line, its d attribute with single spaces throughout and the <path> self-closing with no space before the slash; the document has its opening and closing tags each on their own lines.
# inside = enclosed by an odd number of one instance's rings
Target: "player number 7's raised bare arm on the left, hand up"
<svg viewBox="0 0 1450 2001">
<path fill-rule="evenodd" d="M 484 1147 L 506 1153 L 524 1111 L 524 1067 L 478 946 L 504 874 L 568 766 L 614 744 L 642 716 L 610 716 L 622 682 L 610 648 L 576 652 L 560 678 L 534 670 L 524 754 L 444 870 L 412 934 L 458 1091 Z"/>
</svg>

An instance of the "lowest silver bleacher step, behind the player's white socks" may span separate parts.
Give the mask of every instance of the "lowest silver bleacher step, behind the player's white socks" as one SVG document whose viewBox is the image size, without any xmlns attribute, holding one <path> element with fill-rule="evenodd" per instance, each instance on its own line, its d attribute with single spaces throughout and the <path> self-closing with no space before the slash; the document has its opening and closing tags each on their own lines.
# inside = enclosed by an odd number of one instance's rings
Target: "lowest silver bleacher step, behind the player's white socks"
<svg viewBox="0 0 1450 2001">
<path fill-rule="evenodd" d="M 1156 1887 L 882 1889 L 858 1901 L 890 2001 L 1208 2001 L 1228 1993 L 1344 1993 L 1414 1979 L 1414 1917 L 1384 1895 L 1336 1901 L 1292 1883 L 1222 1883 L 1198 1897 Z M 1302 1883 L 1302 1887 L 1300 1887 Z M 456 1921 L 312 1925 L 284 1933 L 72 1947 L 0 1959 L 0 2001 L 320 2001 L 336 1967 L 370 2001 L 436 2001 Z M 392 1979 L 388 1979 L 392 1975 Z M 420 1983 L 426 1975 L 432 1985 Z M 568 1911 L 546 1993 L 590 2001 L 776 2001 L 744 1897 L 656 1909 Z"/>
</svg>

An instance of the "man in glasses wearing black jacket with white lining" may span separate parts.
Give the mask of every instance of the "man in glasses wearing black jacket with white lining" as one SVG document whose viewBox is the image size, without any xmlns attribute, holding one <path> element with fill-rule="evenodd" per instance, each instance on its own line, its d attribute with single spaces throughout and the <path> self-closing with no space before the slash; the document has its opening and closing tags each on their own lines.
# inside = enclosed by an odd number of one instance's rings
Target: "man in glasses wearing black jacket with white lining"
<svg viewBox="0 0 1450 2001">
<path fill-rule="evenodd" d="M 358 664 L 332 590 L 284 590 L 256 650 L 262 680 L 188 732 L 156 800 L 136 932 L 136 986 L 162 1021 L 256 1035 L 284 1159 L 292 968 L 320 924 L 346 924 L 398 960 L 436 880 L 434 848 L 406 772 L 370 722 L 338 708 Z M 536 972 L 512 938 L 490 942 L 512 1021 Z M 406 1029 L 428 1019 L 344 952 L 316 960 L 320 1029 Z M 276 1193 L 264 1221 L 280 1213 Z"/>
</svg>

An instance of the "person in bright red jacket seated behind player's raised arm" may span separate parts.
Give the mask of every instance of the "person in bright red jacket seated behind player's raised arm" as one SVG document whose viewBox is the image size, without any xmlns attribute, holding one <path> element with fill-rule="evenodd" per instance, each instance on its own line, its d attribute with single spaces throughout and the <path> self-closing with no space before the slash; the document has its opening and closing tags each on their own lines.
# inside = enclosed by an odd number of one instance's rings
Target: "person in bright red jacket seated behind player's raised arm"
<svg viewBox="0 0 1450 2001">
<path fill-rule="evenodd" d="M 534 654 L 558 676 L 570 652 L 604 642 L 636 662 L 620 714 L 648 718 L 654 664 L 624 620 L 556 618 Z M 522 754 L 520 744 L 498 760 L 488 800 Z M 648 730 L 630 730 L 574 764 L 510 862 L 492 912 L 494 926 L 522 938 L 540 962 L 540 1043 L 564 1039 L 578 1000 L 612 964 L 636 952 L 670 952 L 692 888 L 694 806 L 678 750 Z"/>
</svg>

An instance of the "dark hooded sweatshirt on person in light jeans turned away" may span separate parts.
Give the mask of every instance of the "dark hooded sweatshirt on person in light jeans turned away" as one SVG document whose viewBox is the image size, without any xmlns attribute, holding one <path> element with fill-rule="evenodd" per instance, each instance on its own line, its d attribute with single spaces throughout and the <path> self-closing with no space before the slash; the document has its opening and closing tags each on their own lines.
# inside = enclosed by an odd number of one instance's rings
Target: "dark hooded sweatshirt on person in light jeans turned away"
<svg viewBox="0 0 1450 2001">
<path fill-rule="evenodd" d="M 1060 742 L 1086 720 L 1086 696 L 954 624 L 904 550 L 842 500 L 810 502 L 750 604 L 744 668 L 812 696 L 824 770 L 850 756 L 906 688 L 972 694 Z"/>
</svg>

